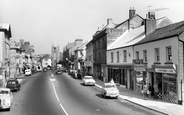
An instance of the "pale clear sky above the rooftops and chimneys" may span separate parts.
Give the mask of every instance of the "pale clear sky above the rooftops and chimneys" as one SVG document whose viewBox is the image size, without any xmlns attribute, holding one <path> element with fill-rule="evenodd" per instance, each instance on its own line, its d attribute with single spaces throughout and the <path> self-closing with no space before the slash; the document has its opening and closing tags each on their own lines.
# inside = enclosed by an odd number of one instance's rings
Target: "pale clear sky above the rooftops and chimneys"
<svg viewBox="0 0 184 115">
<path fill-rule="evenodd" d="M 35 54 L 50 54 L 52 45 L 63 51 L 76 39 L 92 40 L 108 18 L 119 24 L 133 7 L 143 18 L 149 9 L 167 8 L 156 11 L 156 18 L 183 21 L 183 4 L 184 0 L 0 0 L 0 23 L 10 24 L 12 39 L 29 41 Z"/>
</svg>

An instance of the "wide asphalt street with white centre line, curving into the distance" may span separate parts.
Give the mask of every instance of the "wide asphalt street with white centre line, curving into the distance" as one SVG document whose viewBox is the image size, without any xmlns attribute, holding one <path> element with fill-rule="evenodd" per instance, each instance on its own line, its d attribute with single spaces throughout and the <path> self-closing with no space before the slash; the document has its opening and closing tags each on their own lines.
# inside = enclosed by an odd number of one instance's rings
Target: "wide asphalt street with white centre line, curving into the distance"
<svg viewBox="0 0 184 115">
<path fill-rule="evenodd" d="M 160 115 L 122 99 L 106 99 L 95 86 L 83 86 L 67 73 L 53 71 L 26 76 L 14 92 L 10 111 L 0 115 Z"/>
</svg>

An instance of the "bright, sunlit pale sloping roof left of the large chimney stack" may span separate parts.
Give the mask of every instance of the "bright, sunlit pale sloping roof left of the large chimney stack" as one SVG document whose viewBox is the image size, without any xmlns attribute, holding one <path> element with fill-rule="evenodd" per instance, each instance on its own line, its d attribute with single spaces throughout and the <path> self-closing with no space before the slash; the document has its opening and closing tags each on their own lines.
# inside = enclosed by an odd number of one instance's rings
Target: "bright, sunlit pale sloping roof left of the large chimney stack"
<svg viewBox="0 0 184 115">
<path fill-rule="evenodd" d="M 113 42 L 107 50 L 122 48 L 130 45 L 134 45 L 145 37 L 144 25 L 135 29 L 127 30 L 120 37 Z"/>
</svg>

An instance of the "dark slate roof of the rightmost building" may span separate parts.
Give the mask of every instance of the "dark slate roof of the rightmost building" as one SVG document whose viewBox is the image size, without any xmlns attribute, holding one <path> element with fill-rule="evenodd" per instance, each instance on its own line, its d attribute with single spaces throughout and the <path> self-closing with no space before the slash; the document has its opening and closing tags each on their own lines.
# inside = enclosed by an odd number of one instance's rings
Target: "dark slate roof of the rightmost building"
<svg viewBox="0 0 184 115">
<path fill-rule="evenodd" d="M 174 24 L 154 30 L 152 33 L 150 33 L 148 36 L 146 36 L 144 39 L 142 39 L 135 45 L 156 41 L 156 40 L 161 40 L 172 36 L 178 36 L 183 31 L 184 31 L 184 21 L 174 23 Z"/>
</svg>

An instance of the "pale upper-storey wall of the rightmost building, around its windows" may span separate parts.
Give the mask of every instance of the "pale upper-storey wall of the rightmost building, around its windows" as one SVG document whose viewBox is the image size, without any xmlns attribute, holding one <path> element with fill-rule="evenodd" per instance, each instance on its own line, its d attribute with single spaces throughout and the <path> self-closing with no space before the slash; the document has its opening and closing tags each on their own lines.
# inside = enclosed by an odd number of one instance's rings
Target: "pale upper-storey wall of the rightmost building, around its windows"
<svg viewBox="0 0 184 115">
<path fill-rule="evenodd" d="M 151 68 L 151 65 L 155 62 L 155 48 L 160 49 L 160 63 L 164 65 L 166 62 L 166 47 L 172 47 L 172 62 L 178 65 L 178 38 L 172 37 L 170 39 L 159 40 L 155 42 L 150 42 L 146 44 L 134 46 L 134 56 L 135 52 L 139 51 L 139 58 L 143 59 L 143 50 L 147 50 L 147 67 Z"/>
</svg>

